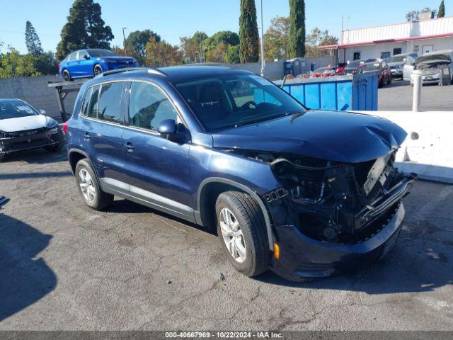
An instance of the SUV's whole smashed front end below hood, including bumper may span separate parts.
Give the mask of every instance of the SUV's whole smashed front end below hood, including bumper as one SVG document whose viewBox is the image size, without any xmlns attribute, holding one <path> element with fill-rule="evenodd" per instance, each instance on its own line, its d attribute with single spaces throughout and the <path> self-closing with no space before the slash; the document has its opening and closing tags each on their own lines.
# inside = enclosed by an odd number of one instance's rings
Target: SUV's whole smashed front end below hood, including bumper
<svg viewBox="0 0 453 340">
<path fill-rule="evenodd" d="M 396 147 L 368 162 L 240 152 L 269 164 L 282 186 L 263 195 L 279 254 L 273 270 L 290 280 L 336 275 L 376 261 L 396 243 L 415 174 L 394 166 Z"/>
</svg>

